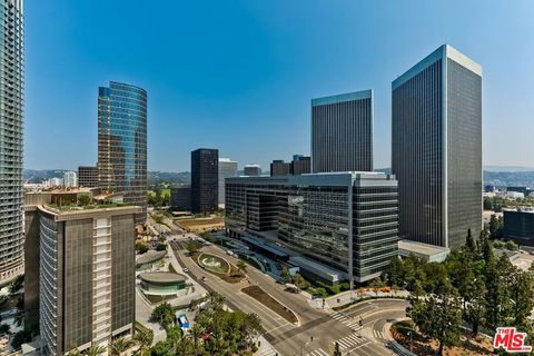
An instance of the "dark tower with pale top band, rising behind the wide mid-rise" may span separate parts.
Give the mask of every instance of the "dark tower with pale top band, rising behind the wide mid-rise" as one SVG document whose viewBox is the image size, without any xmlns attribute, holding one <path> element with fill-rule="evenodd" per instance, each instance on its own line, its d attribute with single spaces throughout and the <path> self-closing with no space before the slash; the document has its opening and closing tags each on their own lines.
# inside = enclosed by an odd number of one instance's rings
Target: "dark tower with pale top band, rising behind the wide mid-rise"
<svg viewBox="0 0 534 356">
<path fill-rule="evenodd" d="M 312 169 L 373 171 L 373 90 L 312 100 Z"/>
</svg>

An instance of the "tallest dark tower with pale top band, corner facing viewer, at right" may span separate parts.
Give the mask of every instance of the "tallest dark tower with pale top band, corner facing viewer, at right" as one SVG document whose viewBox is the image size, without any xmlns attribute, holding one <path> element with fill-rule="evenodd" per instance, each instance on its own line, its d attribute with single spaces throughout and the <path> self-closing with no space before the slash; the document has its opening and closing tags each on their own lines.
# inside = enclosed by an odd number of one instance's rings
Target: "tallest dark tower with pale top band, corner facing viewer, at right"
<svg viewBox="0 0 534 356">
<path fill-rule="evenodd" d="M 458 247 L 482 229 L 482 68 L 445 44 L 392 90 L 400 236 Z"/>
</svg>

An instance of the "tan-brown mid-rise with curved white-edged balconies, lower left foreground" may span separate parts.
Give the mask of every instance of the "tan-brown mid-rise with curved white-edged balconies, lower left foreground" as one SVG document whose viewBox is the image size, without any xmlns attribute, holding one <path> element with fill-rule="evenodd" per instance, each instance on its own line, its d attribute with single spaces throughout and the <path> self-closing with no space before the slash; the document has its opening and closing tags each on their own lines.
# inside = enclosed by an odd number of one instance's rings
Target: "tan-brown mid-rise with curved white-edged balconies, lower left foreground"
<svg viewBox="0 0 534 356">
<path fill-rule="evenodd" d="M 44 355 L 106 349 L 135 325 L 135 219 L 139 207 L 60 207 L 27 195 L 24 309 Z"/>
</svg>

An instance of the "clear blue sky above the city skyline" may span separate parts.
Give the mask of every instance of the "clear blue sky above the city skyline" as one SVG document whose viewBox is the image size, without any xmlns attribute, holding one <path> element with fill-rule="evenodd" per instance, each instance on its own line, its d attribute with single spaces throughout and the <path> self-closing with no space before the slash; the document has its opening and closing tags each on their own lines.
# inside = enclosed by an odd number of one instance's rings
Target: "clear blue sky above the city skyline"
<svg viewBox="0 0 534 356">
<path fill-rule="evenodd" d="M 532 0 L 27 0 L 24 166 L 97 160 L 97 90 L 145 88 L 149 170 L 190 151 L 309 155 L 310 99 L 375 90 L 389 167 L 390 82 L 443 43 L 483 66 L 484 162 L 534 166 Z"/>
</svg>

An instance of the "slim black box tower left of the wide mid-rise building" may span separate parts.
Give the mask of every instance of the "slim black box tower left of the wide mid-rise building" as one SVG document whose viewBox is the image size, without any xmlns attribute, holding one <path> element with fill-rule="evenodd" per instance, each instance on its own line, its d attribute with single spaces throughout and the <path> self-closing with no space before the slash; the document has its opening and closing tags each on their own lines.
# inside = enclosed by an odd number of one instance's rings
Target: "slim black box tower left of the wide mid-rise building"
<svg viewBox="0 0 534 356">
<path fill-rule="evenodd" d="M 216 211 L 219 201 L 219 150 L 199 148 L 191 152 L 191 211 Z"/>
</svg>

